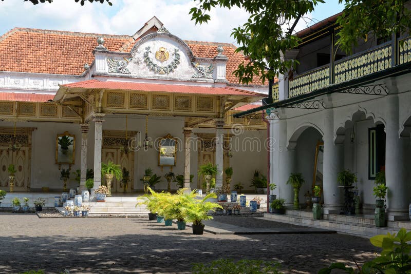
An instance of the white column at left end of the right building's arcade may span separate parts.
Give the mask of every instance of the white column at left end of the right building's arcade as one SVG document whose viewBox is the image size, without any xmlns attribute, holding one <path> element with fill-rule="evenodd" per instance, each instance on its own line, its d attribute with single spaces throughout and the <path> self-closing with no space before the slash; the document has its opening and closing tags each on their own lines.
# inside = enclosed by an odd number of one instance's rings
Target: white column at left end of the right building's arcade
<svg viewBox="0 0 411 274">
<path fill-rule="evenodd" d="M 282 116 L 283 118 L 283 116 Z M 291 172 L 295 172 L 295 146 L 291 145 L 287 148 L 287 121 L 285 119 L 279 120 L 278 125 L 275 127 L 278 132 L 275 133 L 278 136 L 278 198 L 286 200 L 286 206 L 292 207 L 294 203 L 294 192 L 291 185 L 287 184 L 288 178 Z"/>
</svg>

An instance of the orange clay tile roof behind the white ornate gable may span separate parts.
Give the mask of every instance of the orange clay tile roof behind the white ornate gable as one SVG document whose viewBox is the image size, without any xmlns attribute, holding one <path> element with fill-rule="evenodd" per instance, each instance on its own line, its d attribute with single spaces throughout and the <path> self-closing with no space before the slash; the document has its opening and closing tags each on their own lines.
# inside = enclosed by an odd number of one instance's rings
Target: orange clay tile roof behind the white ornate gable
<svg viewBox="0 0 411 274">
<path fill-rule="evenodd" d="M 0 71 L 81 75 L 84 64 L 94 60 L 96 39 L 103 36 L 110 51 L 129 52 L 136 41 L 128 35 L 14 28 L 0 36 Z M 185 41 L 197 57 L 214 58 L 217 46 L 223 45 L 227 62 L 227 80 L 238 84 L 233 71 L 245 60 L 232 44 Z M 261 85 L 254 79 L 253 85 Z"/>
</svg>

